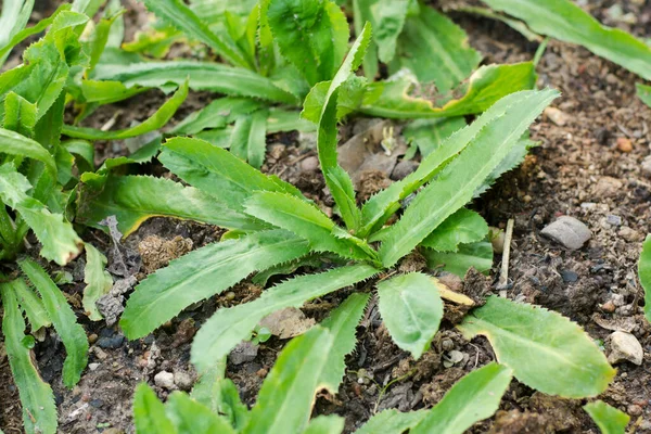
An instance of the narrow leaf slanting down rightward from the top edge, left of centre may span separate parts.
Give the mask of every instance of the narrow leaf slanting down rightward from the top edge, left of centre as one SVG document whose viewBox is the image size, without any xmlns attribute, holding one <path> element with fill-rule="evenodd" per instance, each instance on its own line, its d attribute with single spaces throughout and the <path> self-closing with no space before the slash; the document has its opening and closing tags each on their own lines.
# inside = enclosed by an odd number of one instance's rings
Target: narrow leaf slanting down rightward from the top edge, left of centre
<svg viewBox="0 0 651 434">
<path fill-rule="evenodd" d="M 148 9 L 157 17 L 175 26 L 189 37 L 196 39 L 215 50 L 233 65 L 253 68 L 232 40 L 222 40 L 215 35 L 192 9 L 182 0 L 144 0 Z"/>
</svg>

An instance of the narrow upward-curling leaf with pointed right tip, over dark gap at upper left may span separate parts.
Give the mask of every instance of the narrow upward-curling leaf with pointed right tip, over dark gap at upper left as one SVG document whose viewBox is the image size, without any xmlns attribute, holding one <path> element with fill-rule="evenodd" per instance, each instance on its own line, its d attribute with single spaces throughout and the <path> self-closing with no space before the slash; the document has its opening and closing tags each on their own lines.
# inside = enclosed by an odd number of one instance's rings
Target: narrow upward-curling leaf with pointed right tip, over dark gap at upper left
<svg viewBox="0 0 651 434">
<path fill-rule="evenodd" d="M 63 127 L 63 133 L 75 139 L 86 140 L 120 140 L 141 136 L 164 127 L 169 119 L 171 119 L 171 116 L 174 116 L 178 107 L 183 103 L 183 101 L 186 101 L 187 97 L 188 82 L 183 84 L 174 94 L 174 97 L 165 102 L 165 104 L 163 104 L 161 108 L 158 108 L 156 113 L 152 115 L 152 117 L 132 128 L 126 128 L 117 131 L 102 131 L 94 128 L 65 125 Z"/>
</svg>

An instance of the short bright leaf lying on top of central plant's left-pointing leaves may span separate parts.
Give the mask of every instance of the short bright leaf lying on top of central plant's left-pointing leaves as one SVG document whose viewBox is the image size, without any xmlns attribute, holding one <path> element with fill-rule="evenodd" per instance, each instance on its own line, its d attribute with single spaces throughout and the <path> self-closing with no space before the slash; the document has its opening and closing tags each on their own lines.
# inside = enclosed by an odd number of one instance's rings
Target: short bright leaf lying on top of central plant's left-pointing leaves
<svg viewBox="0 0 651 434">
<path fill-rule="evenodd" d="M 372 254 L 370 246 L 362 250 L 349 238 L 337 238 L 334 221 L 316 205 L 290 194 L 258 191 L 246 201 L 244 209 L 253 217 L 307 240 L 312 251 L 332 252 L 352 259 L 369 259 Z"/>
</svg>

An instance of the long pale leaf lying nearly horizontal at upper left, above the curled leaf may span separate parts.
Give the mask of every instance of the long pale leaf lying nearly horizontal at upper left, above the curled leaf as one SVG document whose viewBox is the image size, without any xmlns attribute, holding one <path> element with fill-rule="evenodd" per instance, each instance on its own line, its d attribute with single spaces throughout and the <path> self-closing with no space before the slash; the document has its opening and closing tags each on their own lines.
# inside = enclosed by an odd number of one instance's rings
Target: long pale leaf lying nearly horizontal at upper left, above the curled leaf
<svg viewBox="0 0 651 434">
<path fill-rule="evenodd" d="M 94 79 L 120 81 L 133 86 L 158 88 L 175 84 L 180 86 L 190 78 L 192 90 L 209 90 L 232 97 L 252 97 L 261 100 L 296 104 L 292 93 L 276 86 L 269 78 L 248 69 L 207 62 L 145 62 L 130 65 L 100 64 Z"/>
</svg>

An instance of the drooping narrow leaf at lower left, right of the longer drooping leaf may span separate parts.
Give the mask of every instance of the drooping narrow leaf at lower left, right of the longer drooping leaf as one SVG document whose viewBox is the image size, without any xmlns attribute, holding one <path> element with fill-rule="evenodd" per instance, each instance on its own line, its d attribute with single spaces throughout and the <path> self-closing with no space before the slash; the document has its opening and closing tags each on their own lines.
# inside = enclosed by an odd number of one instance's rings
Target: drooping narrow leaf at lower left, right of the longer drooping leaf
<svg viewBox="0 0 651 434">
<path fill-rule="evenodd" d="M 72 388 L 79 382 L 81 371 L 86 369 L 88 362 L 86 332 L 77 323 L 77 317 L 67 304 L 67 299 L 48 273 L 31 259 L 22 259 L 18 265 L 40 294 L 48 317 L 52 320 L 54 330 L 65 346 L 67 356 L 63 363 L 63 383 Z"/>
</svg>

